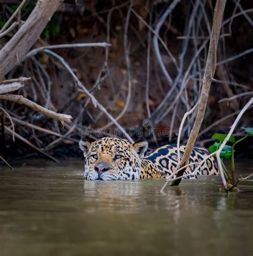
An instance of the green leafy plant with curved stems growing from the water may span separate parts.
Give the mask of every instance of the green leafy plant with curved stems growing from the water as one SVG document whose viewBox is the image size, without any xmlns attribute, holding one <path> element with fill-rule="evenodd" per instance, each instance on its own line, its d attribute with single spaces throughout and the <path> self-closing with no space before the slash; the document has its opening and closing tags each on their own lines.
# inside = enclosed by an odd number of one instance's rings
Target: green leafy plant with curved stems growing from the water
<svg viewBox="0 0 253 256">
<path fill-rule="evenodd" d="M 235 140 L 235 137 L 233 135 L 231 135 L 230 139 L 228 139 L 228 142 L 231 142 L 232 146 L 229 145 L 225 145 L 222 149 L 222 152 L 220 152 L 220 158 L 222 159 L 222 167 L 225 173 L 225 177 L 227 179 L 227 182 L 229 182 L 230 184 L 235 184 L 235 164 L 234 164 L 234 147 L 241 141 L 243 141 L 244 139 L 246 139 L 249 136 L 253 136 L 253 127 L 241 127 L 241 129 L 243 129 L 246 132 L 246 135 L 244 135 L 243 138 L 239 139 L 239 140 Z M 212 135 L 212 139 L 218 140 L 219 142 L 215 142 L 214 145 L 211 145 L 209 147 L 209 152 L 210 153 L 214 153 L 216 152 L 220 146 L 222 145 L 222 142 L 225 140 L 225 138 L 227 137 L 227 134 L 223 134 L 223 133 L 215 133 L 214 135 Z M 228 174 L 226 167 L 223 163 L 223 159 L 230 159 L 231 158 L 231 176 Z"/>
</svg>

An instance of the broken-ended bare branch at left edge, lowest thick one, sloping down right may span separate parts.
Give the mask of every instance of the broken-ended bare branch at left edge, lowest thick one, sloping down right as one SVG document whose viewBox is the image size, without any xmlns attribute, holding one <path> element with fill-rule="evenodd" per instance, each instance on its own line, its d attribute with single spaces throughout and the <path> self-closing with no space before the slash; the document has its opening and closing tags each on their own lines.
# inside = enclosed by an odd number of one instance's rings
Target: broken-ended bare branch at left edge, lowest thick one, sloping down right
<svg viewBox="0 0 253 256">
<path fill-rule="evenodd" d="M 67 123 L 72 122 L 72 116 L 65 115 L 65 114 L 58 114 L 52 110 L 43 108 L 39 104 L 37 104 L 33 101 L 30 101 L 21 95 L 13 95 L 13 94 L 0 95 L 0 100 L 13 101 L 18 104 L 26 105 L 27 107 L 34 109 L 35 111 L 40 112 L 41 114 L 43 114 L 45 116 L 57 119 L 61 122 L 67 122 Z"/>
</svg>

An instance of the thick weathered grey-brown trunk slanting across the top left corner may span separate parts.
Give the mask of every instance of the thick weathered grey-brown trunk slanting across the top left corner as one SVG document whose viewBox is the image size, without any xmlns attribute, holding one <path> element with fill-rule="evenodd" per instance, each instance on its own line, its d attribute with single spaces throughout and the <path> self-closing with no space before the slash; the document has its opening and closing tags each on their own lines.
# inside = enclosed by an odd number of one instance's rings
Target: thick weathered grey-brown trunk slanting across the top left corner
<svg viewBox="0 0 253 256">
<path fill-rule="evenodd" d="M 0 79 L 19 63 L 41 35 L 61 0 L 38 1 L 26 22 L 0 51 Z"/>
</svg>

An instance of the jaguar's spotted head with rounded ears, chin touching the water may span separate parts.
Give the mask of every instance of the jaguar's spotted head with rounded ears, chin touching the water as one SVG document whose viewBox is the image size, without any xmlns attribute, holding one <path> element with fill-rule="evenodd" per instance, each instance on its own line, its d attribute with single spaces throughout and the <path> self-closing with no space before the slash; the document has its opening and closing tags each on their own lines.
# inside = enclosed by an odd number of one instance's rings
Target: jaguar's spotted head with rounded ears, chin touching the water
<svg viewBox="0 0 253 256">
<path fill-rule="evenodd" d="M 84 177 L 89 180 L 139 179 L 141 158 L 146 141 L 131 144 L 128 140 L 106 137 L 94 142 L 80 140 L 85 157 Z"/>
</svg>

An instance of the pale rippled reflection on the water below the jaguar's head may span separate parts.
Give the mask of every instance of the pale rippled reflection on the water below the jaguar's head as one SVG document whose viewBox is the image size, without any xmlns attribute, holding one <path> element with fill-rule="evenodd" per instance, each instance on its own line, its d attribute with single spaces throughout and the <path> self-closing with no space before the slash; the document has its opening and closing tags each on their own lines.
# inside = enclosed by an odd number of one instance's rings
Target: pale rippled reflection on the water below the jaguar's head
<svg viewBox="0 0 253 256">
<path fill-rule="evenodd" d="M 138 213 L 144 208 L 159 210 L 161 205 L 167 210 L 175 210 L 179 207 L 179 200 L 175 197 L 174 191 L 169 197 L 168 194 L 161 195 L 157 186 L 149 191 L 154 180 L 149 180 L 148 183 L 148 186 L 144 186 L 143 180 L 117 182 L 84 180 L 84 200 L 92 201 L 90 213 L 96 212 L 98 208 L 110 212 Z M 178 193 L 178 189 L 175 191 Z"/>
</svg>

